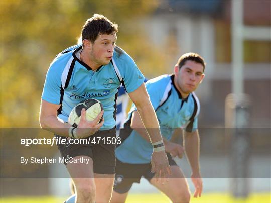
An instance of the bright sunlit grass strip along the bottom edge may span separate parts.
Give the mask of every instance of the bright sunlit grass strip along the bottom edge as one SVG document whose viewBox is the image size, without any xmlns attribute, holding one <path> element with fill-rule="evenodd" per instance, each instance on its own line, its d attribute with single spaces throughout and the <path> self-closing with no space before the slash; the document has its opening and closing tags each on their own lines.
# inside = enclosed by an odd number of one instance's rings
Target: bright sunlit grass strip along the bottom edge
<svg viewBox="0 0 271 203">
<path fill-rule="evenodd" d="M 1 203 L 54 203 L 63 202 L 65 198 L 54 198 L 47 196 L 39 197 L 5 197 Z M 162 203 L 169 199 L 162 194 L 129 194 L 126 203 Z M 203 194 L 201 198 L 192 198 L 191 203 L 270 203 L 271 193 L 251 194 L 247 199 L 233 199 L 229 194 L 215 193 Z"/>
</svg>

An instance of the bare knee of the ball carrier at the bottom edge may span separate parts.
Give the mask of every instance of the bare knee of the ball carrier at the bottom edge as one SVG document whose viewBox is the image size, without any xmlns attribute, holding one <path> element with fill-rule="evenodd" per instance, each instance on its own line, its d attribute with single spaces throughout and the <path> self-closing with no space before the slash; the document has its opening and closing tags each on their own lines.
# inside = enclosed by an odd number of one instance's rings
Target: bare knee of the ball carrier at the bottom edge
<svg viewBox="0 0 271 203">
<path fill-rule="evenodd" d="M 84 202 L 93 202 L 95 200 L 96 187 L 92 182 L 83 182 L 76 185 L 77 197 Z"/>
</svg>

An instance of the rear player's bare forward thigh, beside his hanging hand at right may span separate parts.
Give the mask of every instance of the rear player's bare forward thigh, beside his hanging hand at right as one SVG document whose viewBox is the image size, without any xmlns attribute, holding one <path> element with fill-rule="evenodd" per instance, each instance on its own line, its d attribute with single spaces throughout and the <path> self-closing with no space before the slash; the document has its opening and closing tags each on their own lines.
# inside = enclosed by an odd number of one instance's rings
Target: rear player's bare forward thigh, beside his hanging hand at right
<svg viewBox="0 0 271 203">
<path fill-rule="evenodd" d="M 171 171 L 172 175 L 170 176 L 169 181 L 165 181 L 164 184 L 157 182 L 155 178 L 152 178 L 150 183 L 171 199 L 175 199 L 176 196 L 187 195 L 190 193 L 187 181 L 181 169 L 178 166 L 173 165 L 171 166 Z"/>
</svg>

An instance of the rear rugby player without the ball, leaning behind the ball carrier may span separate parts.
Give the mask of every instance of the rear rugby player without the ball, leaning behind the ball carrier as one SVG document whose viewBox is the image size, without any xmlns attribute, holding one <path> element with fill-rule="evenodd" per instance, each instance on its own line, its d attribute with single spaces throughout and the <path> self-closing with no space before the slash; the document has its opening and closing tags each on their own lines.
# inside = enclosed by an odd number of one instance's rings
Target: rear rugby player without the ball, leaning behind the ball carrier
<svg viewBox="0 0 271 203">
<path fill-rule="evenodd" d="M 186 179 L 172 156 L 182 157 L 184 149 L 172 143 L 176 128 L 183 128 L 184 147 L 192 168 L 194 197 L 201 196 L 202 179 L 199 167 L 199 134 L 197 117 L 200 104 L 195 91 L 204 78 L 205 63 L 195 53 L 180 57 L 174 67 L 174 74 L 162 75 L 146 83 L 152 105 L 156 110 L 165 150 L 171 165 L 172 176 L 169 181 L 156 181 L 150 164 L 152 145 L 144 129 L 140 115 L 133 105 L 124 129 L 120 131 L 121 144 L 116 149 L 116 175 L 111 202 L 124 202 L 134 182 L 142 176 L 165 193 L 173 202 L 189 202 L 190 192 Z"/>
</svg>

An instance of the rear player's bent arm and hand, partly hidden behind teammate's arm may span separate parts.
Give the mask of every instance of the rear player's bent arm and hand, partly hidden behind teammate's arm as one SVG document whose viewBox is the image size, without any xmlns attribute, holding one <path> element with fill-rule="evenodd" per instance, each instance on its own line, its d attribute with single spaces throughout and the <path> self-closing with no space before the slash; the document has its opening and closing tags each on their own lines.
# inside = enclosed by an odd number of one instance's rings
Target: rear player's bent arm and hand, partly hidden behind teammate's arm
<svg viewBox="0 0 271 203">
<path fill-rule="evenodd" d="M 148 142 L 150 141 L 150 137 L 142 123 L 142 120 L 140 118 L 140 115 L 137 111 L 133 111 L 132 117 L 131 117 L 131 128 L 135 131 L 137 131 L 140 136 L 142 136 L 145 140 Z M 184 149 L 181 145 L 173 143 L 168 141 L 167 139 L 163 138 L 163 142 L 165 145 L 165 151 L 167 153 L 170 153 L 173 157 L 178 156 L 179 158 L 182 158 Z"/>
</svg>

